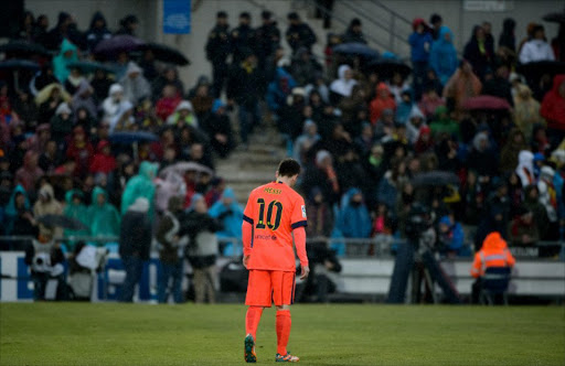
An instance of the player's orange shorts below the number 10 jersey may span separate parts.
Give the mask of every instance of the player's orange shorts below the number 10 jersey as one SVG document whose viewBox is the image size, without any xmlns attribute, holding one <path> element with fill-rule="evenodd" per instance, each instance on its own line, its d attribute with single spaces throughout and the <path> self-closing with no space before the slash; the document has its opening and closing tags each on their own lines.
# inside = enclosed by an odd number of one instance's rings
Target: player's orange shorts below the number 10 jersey
<svg viewBox="0 0 565 366">
<path fill-rule="evenodd" d="M 295 302 L 296 273 L 285 271 L 249 270 L 245 304 L 270 308 Z"/>
</svg>

